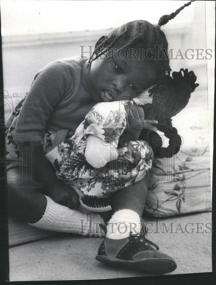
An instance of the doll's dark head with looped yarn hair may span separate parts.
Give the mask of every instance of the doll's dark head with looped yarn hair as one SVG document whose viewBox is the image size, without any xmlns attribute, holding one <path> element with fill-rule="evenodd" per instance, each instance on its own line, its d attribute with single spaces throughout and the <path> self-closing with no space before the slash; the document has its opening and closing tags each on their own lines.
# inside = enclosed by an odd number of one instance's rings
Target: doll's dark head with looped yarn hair
<svg viewBox="0 0 216 285">
<path fill-rule="evenodd" d="M 156 119 L 157 127 L 169 139 L 169 149 L 165 152 L 161 150 L 162 140 L 160 136 L 151 131 L 146 133 L 145 129 L 141 132 L 140 139 L 147 140 L 153 148 L 155 157 L 171 157 L 180 150 L 181 137 L 177 129 L 172 126 L 172 117 L 177 115 L 186 107 L 190 99 L 190 94 L 199 86 L 196 82 L 196 76 L 193 71 L 180 69 L 180 72 L 173 72 L 172 77 L 165 75 L 161 81 L 149 90 L 149 96 L 152 97 L 152 104 L 142 106 L 145 118 Z M 152 108 L 153 105 L 153 108 Z M 152 112 L 154 109 L 154 112 Z"/>
</svg>

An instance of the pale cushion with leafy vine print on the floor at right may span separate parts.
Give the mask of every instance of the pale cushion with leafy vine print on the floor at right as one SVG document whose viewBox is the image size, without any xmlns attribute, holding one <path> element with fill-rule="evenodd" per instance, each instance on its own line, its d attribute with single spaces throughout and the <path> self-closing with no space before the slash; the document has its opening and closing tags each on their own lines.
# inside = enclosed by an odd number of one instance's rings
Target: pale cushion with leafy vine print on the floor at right
<svg viewBox="0 0 216 285">
<path fill-rule="evenodd" d="M 154 217 L 211 211 L 209 151 L 191 148 L 157 160 L 145 203 Z"/>
</svg>

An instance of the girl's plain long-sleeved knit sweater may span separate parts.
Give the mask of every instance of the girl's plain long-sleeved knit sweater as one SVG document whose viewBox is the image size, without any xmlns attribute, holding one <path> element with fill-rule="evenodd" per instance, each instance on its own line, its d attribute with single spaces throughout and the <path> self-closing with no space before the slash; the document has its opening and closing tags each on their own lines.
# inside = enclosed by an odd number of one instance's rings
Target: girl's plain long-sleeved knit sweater
<svg viewBox="0 0 216 285">
<path fill-rule="evenodd" d="M 34 81 L 17 118 L 15 135 L 24 141 L 42 135 L 45 129 L 76 129 L 95 105 L 85 89 L 81 56 L 47 64 Z M 26 136 L 27 135 L 27 136 Z"/>
</svg>

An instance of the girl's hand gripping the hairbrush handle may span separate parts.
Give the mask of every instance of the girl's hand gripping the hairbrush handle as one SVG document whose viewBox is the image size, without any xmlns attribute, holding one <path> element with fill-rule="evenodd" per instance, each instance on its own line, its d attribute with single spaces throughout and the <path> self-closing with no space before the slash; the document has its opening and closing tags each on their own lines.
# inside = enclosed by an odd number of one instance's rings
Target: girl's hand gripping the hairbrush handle
<svg viewBox="0 0 216 285">
<path fill-rule="evenodd" d="M 53 201 L 60 205 L 70 209 L 79 208 L 79 195 L 67 184 L 56 182 L 46 193 Z"/>
</svg>

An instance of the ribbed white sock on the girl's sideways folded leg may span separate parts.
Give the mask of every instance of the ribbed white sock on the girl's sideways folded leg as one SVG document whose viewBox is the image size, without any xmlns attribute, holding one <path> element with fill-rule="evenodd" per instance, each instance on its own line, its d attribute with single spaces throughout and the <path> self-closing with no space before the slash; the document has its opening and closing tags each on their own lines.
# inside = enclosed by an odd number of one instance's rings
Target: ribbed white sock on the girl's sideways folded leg
<svg viewBox="0 0 216 285">
<path fill-rule="evenodd" d="M 76 233 L 81 235 L 104 237 L 104 231 L 99 227 L 104 223 L 103 218 L 97 213 L 84 214 L 77 209 L 55 203 L 50 197 L 47 199 L 47 206 L 43 217 L 36 223 L 29 223 L 33 227 L 50 231 L 65 233 Z"/>
</svg>

